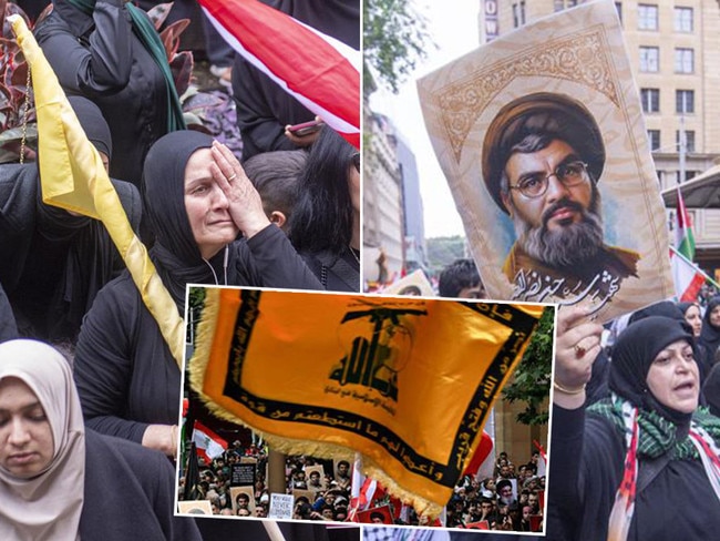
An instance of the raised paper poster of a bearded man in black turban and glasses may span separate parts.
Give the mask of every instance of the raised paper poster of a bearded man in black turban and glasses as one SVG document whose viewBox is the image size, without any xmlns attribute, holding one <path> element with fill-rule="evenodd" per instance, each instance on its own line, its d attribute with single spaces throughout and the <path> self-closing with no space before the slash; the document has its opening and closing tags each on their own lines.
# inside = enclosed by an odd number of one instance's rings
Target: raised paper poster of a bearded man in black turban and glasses
<svg viewBox="0 0 720 541">
<path fill-rule="evenodd" d="M 490 298 L 589 305 L 605 321 L 673 295 L 614 2 L 541 19 L 418 88 Z"/>
</svg>

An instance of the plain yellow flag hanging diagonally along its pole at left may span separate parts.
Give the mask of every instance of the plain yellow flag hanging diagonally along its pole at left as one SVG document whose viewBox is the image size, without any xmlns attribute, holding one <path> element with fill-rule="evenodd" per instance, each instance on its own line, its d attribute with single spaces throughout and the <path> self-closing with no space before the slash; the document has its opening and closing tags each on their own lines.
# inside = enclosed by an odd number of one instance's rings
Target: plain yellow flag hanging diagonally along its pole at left
<svg viewBox="0 0 720 541">
<path fill-rule="evenodd" d="M 183 319 L 135 236 L 100 154 L 88 141 L 60 82 L 20 16 L 10 16 L 18 45 L 30 65 L 38 115 L 42 201 L 100 220 L 123 257 L 143 302 L 178 365 L 183 361 Z"/>
</svg>

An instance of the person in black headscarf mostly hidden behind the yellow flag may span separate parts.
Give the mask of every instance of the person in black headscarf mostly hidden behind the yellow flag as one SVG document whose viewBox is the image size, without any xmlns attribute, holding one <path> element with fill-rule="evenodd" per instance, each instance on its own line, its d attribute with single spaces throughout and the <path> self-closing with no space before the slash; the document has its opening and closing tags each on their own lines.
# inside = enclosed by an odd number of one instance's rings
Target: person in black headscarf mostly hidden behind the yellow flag
<svg viewBox="0 0 720 541">
<path fill-rule="evenodd" d="M 104 163 L 112 156 L 110 129 L 100 109 L 82 96 L 69 102 L 90 142 Z M 0 220 L 3 269 L 20 335 L 74 343 L 85 313 L 97 292 L 124 268 L 105 226 L 86 216 L 42 202 L 37 163 L 2 166 L 0 183 L 14 184 L 18 193 L 0 202 L 9 213 Z M 127 217 L 137 228 L 140 193 L 130 183 L 112 181 Z M 20 224 L 8 231 L 4 224 Z"/>
</svg>

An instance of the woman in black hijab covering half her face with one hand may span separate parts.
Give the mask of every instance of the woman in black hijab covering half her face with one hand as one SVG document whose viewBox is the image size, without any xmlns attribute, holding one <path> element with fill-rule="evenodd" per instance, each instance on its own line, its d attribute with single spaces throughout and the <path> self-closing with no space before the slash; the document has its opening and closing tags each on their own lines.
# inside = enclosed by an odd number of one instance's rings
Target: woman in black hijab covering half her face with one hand
<svg viewBox="0 0 720 541">
<path fill-rule="evenodd" d="M 151 257 L 185 312 L 188 283 L 321 289 L 227 147 L 179 131 L 151 149 L 145 211 Z M 238 232 L 244 238 L 236 241 Z M 83 323 L 75 379 L 88 425 L 174 455 L 181 371 L 128 273 L 99 294 Z"/>
</svg>

